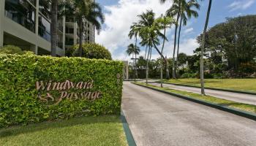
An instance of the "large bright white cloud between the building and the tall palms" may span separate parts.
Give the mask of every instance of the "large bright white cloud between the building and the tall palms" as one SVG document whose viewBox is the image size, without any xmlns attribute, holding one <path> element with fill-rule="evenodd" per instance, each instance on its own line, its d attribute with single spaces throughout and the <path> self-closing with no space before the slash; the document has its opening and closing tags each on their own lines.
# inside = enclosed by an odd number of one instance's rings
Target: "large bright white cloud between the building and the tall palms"
<svg viewBox="0 0 256 146">
<path fill-rule="evenodd" d="M 119 0 L 118 4 L 106 6 L 105 28 L 96 37 L 96 42 L 108 47 L 114 59 L 126 59 L 124 55 L 129 40 L 129 26 L 138 20 L 137 15 L 146 9 L 153 9 L 157 16 L 165 13 L 171 6 L 170 1 L 160 4 L 159 0 Z"/>
</svg>

